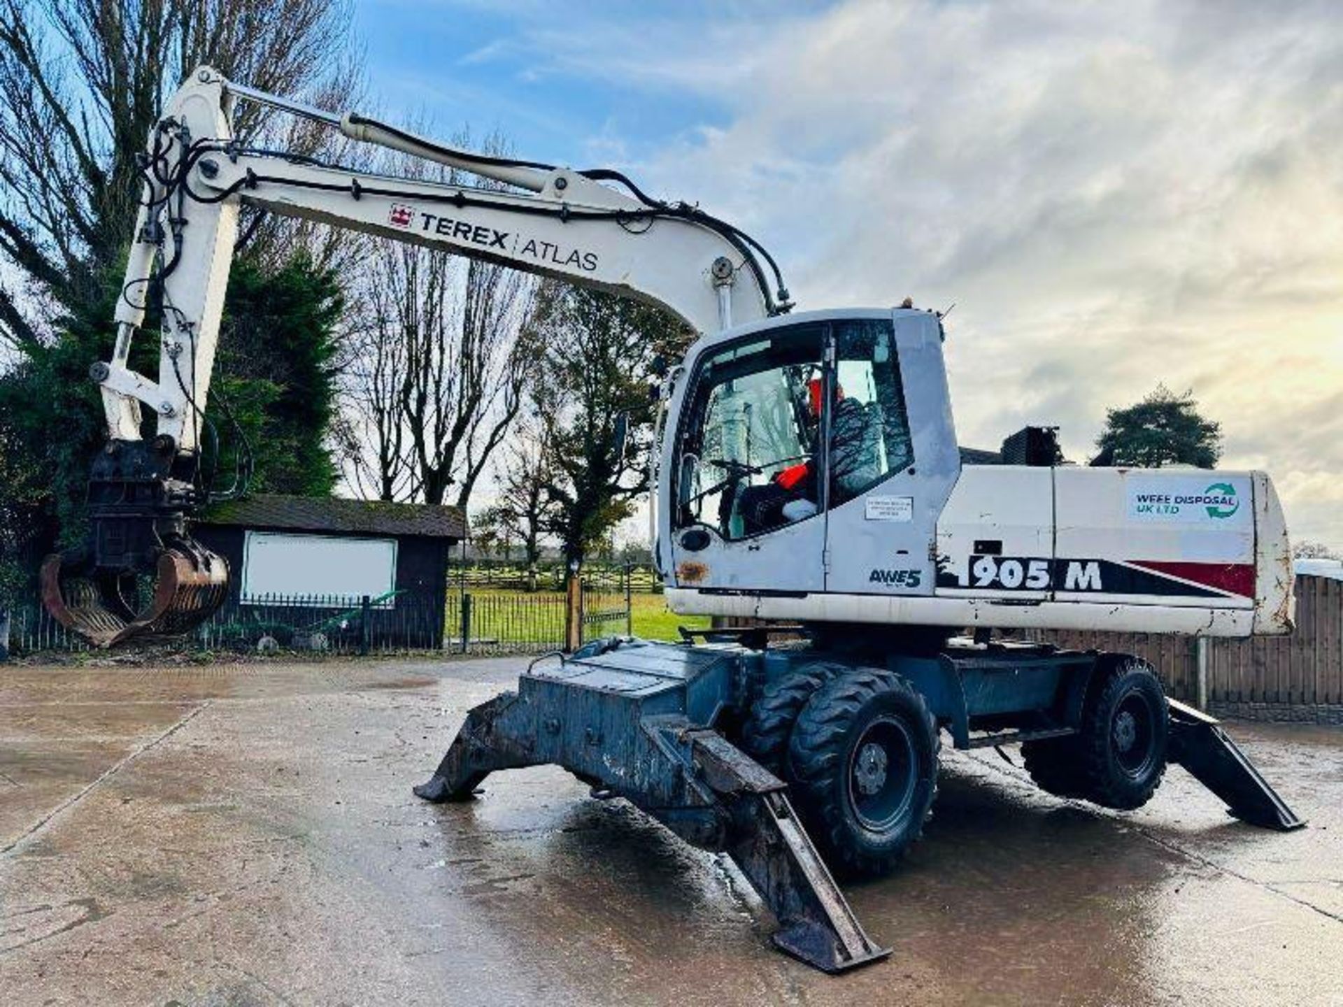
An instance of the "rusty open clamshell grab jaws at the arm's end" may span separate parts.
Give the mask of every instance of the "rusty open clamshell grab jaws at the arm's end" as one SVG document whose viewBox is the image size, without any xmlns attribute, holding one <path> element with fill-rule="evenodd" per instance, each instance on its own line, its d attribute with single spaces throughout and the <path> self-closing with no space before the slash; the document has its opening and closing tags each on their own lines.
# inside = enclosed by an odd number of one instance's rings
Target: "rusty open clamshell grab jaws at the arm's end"
<svg viewBox="0 0 1343 1007">
<path fill-rule="evenodd" d="M 95 647 L 129 639 L 181 636 L 200 626 L 224 603 L 228 564 L 200 545 L 168 546 L 158 553 L 157 579 L 149 604 L 136 611 L 122 593 L 124 577 L 98 571 L 66 569 L 66 557 L 42 564 L 42 602 L 62 626 Z"/>
</svg>

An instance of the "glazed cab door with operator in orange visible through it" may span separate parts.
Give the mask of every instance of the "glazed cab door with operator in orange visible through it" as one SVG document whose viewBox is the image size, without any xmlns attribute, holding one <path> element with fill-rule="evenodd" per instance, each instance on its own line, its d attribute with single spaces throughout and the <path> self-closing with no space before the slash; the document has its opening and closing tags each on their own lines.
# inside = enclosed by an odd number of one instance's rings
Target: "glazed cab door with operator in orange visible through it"
<svg viewBox="0 0 1343 1007">
<path fill-rule="evenodd" d="M 680 588 L 825 588 L 822 424 L 827 326 L 788 324 L 709 346 L 693 365 L 673 454 Z"/>
</svg>

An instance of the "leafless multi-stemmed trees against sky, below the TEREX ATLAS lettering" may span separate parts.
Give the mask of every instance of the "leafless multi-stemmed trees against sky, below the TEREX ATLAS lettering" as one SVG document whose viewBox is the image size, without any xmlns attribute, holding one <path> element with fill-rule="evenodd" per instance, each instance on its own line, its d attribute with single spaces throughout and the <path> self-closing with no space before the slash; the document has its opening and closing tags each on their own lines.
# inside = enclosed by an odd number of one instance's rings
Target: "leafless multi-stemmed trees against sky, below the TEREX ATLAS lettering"
<svg viewBox="0 0 1343 1007">
<path fill-rule="evenodd" d="M 502 153 L 505 144 L 493 136 L 485 150 Z M 393 158 L 387 169 L 465 181 L 415 158 Z M 535 286 L 505 266 L 369 240 L 355 298 L 364 307 L 363 358 L 346 371 L 356 487 L 383 499 L 467 505 L 536 367 Z"/>
</svg>

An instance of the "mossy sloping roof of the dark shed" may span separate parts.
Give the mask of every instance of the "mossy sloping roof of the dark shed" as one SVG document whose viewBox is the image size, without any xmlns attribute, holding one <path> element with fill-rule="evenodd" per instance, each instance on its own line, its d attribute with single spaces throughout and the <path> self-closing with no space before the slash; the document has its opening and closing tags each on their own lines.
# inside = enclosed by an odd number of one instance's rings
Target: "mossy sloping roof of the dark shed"
<svg viewBox="0 0 1343 1007">
<path fill-rule="evenodd" d="M 215 504 L 200 517 L 200 522 L 297 532 L 420 534 L 455 540 L 466 537 L 466 516 L 461 508 L 340 497 L 289 497 L 281 493 L 255 493 L 243 499 Z"/>
</svg>

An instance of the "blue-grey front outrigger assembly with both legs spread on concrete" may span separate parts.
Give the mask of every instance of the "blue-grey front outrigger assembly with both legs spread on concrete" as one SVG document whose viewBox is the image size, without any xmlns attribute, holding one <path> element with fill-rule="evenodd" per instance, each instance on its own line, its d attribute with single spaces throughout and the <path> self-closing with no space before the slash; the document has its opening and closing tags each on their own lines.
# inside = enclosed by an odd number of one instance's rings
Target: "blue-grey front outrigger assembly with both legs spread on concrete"
<svg viewBox="0 0 1343 1007">
<path fill-rule="evenodd" d="M 727 853 L 779 920 L 774 941 L 787 953 L 826 972 L 889 955 L 864 932 L 778 777 L 681 713 L 641 716 L 680 706 L 665 701 L 685 685 L 580 661 L 528 671 L 518 693 L 467 713 L 415 794 L 463 800 L 496 769 L 561 765 L 596 796 L 626 798 L 686 842 Z"/>
</svg>

